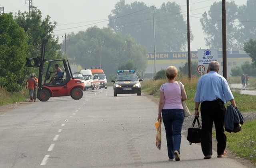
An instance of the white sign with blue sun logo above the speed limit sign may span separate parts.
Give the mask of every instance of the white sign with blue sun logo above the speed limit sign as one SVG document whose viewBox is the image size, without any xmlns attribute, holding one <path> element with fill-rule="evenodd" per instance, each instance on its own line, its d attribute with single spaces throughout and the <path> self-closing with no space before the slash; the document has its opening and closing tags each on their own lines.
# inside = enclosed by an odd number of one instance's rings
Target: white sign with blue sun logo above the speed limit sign
<svg viewBox="0 0 256 168">
<path fill-rule="evenodd" d="M 200 49 L 198 53 L 198 65 L 209 64 L 212 61 L 218 61 L 218 50 L 214 49 Z"/>
</svg>

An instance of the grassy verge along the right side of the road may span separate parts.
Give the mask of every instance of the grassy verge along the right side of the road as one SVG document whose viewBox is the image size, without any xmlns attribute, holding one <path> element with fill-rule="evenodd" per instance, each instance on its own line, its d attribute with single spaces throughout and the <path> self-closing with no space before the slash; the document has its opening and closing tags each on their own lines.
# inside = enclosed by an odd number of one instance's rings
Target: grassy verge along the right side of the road
<svg viewBox="0 0 256 168">
<path fill-rule="evenodd" d="M 194 94 L 196 92 L 196 84 L 198 78 L 188 79 L 187 76 L 178 76 L 176 81 L 181 81 L 185 86 L 188 100 L 186 105 L 190 111 L 194 112 Z M 142 83 L 142 91 L 159 98 L 159 88 L 162 84 L 166 83 L 167 80 L 144 80 Z M 256 96 L 240 94 L 238 91 L 232 90 L 236 105 L 241 112 L 256 111 Z M 226 103 L 228 106 L 230 102 Z M 251 160 L 252 163 L 256 164 L 256 120 L 244 122 L 242 131 L 238 133 L 227 132 L 227 145 L 232 152 L 237 156 Z M 214 135 L 213 135 L 214 136 Z"/>
</svg>

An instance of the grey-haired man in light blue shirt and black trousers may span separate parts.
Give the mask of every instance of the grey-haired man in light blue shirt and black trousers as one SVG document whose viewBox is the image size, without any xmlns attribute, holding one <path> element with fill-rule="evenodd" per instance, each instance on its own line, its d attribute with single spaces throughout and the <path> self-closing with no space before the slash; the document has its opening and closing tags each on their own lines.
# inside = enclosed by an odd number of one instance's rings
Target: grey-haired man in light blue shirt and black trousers
<svg viewBox="0 0 256 168">
<path fill-rule="evenodd" d="M 227 154 L 226 135 L 224 134 L 224 104 L 228 101 L 236 108 L 234 96 L 228 86 L 227 80 L 218 74 L 220 64 L 217 61 L 210 62 L 207 74 L 201 76 L 196 87 L 195 116 L 199 116 L 198 108 L 201 103 L 202 137 L 201 148 L 204 159 L 212 158 L 212 126 L 216 130 L 218 158 Z"/>
</svg>

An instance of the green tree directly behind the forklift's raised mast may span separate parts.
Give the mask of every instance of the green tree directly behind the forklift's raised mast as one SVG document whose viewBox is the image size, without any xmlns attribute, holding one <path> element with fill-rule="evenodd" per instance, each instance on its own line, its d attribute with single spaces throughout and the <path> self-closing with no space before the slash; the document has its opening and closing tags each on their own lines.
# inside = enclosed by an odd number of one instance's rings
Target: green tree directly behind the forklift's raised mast
<svg viewBox="0 0 256 168">
<path fill-rule="evenodd" d="M 49 15 L 42 19 L 42 12 L 33 7 L 31 14 L 19 11 L 14 19 L 18 25 L 24 28 L 29 37 L 27 57 L 39 57 L 41 55 L 42 39 L 47 39 L 45 58 L 47 60 L 63 58 L 60 52 L 61 44 L 58 44 L 58 37 L 55 38 L 53 35 L 53 30 L 57 23 L 51 22 Z"/>
</svg>

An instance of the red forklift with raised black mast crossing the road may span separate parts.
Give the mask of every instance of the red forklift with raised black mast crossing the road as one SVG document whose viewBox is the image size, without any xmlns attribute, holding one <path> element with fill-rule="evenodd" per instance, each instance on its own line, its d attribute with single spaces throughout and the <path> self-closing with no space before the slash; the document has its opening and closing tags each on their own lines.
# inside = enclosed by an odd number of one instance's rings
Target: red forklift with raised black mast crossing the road
<svg viewBox="0 0 256 168">
<path fill-rule="evenodd" d="M 37 98 L 42 102 L 46 102 L 50 97 L 58 96 L 71 96 L 74 100 L 79 100 L 83 97 L 84 84 L 82 83 L 82 80 L 73 78 L 68 60 L 58 59 L 46 61 L 44 59 L 47 42 L 48 40 L 42 40 Z M 44 66 L 46 67 L 47 64 L 48 68 L 45 71 Z M 50 80 L 52 75 L 55 75 L 49 71 L 55 69 L 55 64 L 58 64 L 62 69 L 62 76 L 60 76 L 60 78 L 54 78 L 51 84 L 49 84 L 47 81 Z M 44 80 L 43 73 L 45 74 Z"/>
</svg>

